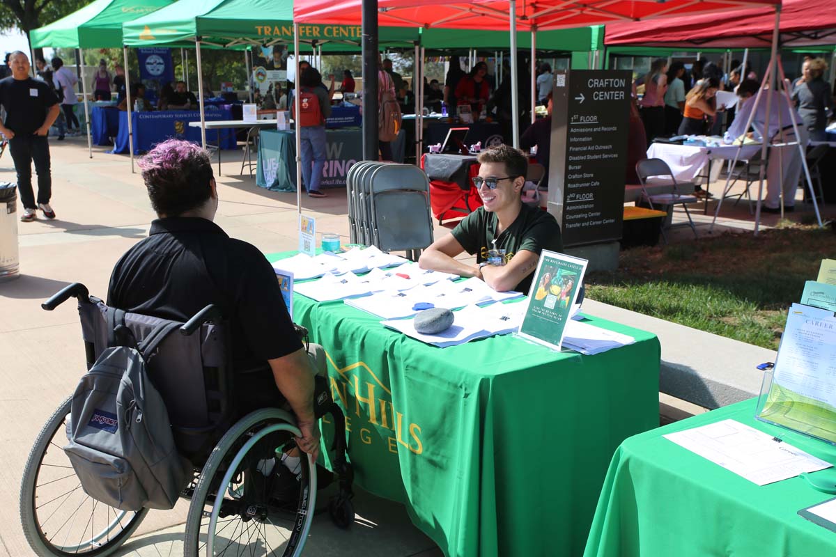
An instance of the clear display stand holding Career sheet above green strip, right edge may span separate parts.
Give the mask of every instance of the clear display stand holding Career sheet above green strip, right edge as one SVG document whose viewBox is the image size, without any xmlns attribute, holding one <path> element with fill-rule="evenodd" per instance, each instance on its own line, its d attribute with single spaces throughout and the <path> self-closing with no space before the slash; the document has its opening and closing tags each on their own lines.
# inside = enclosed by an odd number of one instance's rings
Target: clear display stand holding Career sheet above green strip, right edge
<svg viewBox="0 0 836 557">
<path fill-rule="evenodd" d="M 836 317 L 793 304 L 758 418 L 836 443 Z"/>
</svg>

